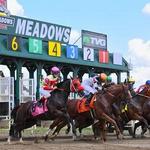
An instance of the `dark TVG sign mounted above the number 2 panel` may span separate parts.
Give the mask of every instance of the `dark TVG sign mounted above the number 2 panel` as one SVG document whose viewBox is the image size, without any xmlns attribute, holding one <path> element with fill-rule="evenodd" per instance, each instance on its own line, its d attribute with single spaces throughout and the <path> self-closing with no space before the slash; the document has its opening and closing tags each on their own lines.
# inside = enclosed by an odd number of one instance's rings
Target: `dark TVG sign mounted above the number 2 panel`
<svg viewBox="0 0 150 150">
<path fill-rule="evenodd" d="M 82 47 L 107 50 L 107 35 L 82 30 Z"/>
</svg>

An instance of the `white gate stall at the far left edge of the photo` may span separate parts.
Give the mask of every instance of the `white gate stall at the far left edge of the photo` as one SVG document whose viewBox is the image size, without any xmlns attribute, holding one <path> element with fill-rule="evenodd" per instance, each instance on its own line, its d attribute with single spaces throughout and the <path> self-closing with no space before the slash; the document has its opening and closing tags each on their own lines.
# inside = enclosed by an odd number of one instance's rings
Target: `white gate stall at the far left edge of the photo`
<svg viewBox="0 0 150 150">
<path fill-rule="evenodd" d="M 0 118 L 10 119 L 14 108 L 14 78 L 0 77 Z"/>
</svg>

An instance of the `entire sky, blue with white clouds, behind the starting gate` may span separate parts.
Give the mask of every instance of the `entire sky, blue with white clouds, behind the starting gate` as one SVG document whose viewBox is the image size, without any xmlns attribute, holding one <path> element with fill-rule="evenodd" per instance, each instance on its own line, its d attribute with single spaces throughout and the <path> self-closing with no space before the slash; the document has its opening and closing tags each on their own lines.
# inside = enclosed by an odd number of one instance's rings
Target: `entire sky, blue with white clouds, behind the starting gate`
<svg viewBox="0 0 150 150">
<path fill-rule="evenodd" d="M 137 86 L 150 79 L 150 0 L 7 0 L 11 14 L 107 34 L 108 51 L 132 63 Z M 77 42 L 78 45 L 81 41 Z"/>
</svg>

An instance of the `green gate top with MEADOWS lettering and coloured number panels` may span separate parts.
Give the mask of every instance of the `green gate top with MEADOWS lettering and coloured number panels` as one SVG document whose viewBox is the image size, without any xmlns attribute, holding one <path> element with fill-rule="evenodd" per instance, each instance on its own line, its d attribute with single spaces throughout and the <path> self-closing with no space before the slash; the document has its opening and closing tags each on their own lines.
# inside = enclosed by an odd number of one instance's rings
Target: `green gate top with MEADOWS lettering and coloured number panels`
<svg viewBox="0 0 150 150">
<path fill-rule="evenodd" d="M 90 47 L 85 50 L 76 45 L 68 48 L 70 27 L 18 16 L 11 16 L 11 19 L 13 25 L 0 29 L 1 56 L 128 71 L 125 59 L 122 64 L 114 64 L 113 54 L 107 49 L 108 62 L 103 63 L 99 59 L 100 49 Z"/>
</svg>

